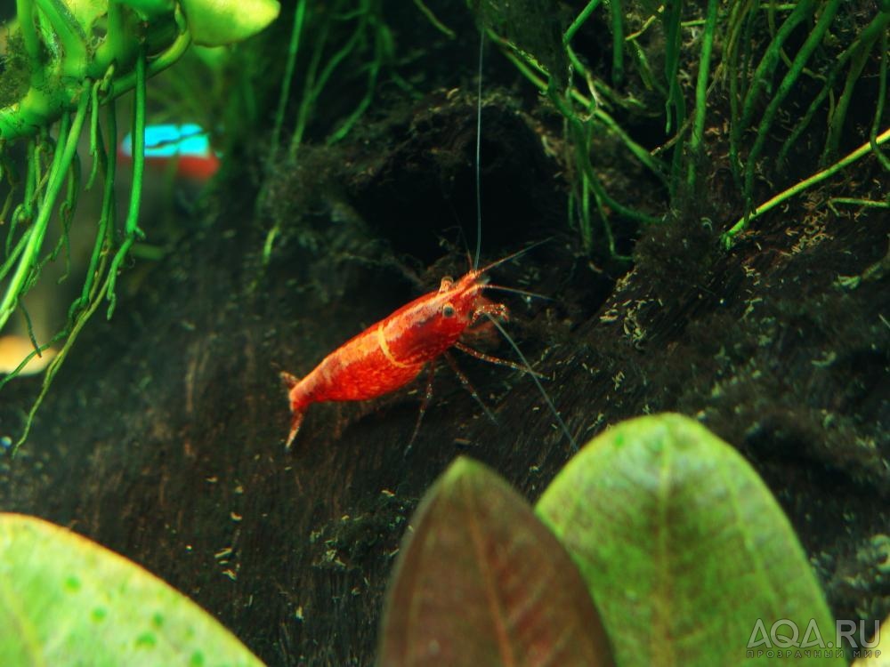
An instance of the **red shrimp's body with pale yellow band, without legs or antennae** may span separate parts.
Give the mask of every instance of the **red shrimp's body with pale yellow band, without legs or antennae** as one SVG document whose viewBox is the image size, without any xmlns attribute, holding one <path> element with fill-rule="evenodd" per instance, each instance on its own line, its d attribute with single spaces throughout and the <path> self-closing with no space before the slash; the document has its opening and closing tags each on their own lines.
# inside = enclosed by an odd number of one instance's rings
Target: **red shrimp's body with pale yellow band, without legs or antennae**
<svg viewBox="0 0 890 667">
<path fill-rule="evenodd" d="M 497 262 L 499 263 L 499 262 Z M 457 282 L 442 278 L 439 290 L 402 306 L 331 352 L 302 380 L 282 373 L 290 399 L 294 441 L 306 408 L 322 401 L 359 401 L 401 389 L 449 350 L 484 315 L 506 317 L 506 306 L 482 296 L 485 269 Z"/>
</svg>

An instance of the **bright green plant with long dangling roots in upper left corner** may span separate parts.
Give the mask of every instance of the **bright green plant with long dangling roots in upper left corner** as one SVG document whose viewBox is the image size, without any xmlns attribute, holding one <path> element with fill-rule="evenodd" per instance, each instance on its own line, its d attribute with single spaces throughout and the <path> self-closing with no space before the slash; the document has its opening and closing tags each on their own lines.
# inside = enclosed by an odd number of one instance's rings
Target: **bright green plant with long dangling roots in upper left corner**
<svg viewBox="0 0 890 667">
<path fill-rule="evenodd" d="M 47 367 L 20 444 L 71 344 L 102 301 L 108 301 L 110 317 L 117 274 L 134 243 L 143 237 L 139 209 L 146 80 L 171 66 L 193 42 L 230 44 L 254 35 L 278 15 L 279 4 L 277 0 L 18 0 L 16 9 L 15 20 L 7 25 L 0 74 L 0 172 L 9 184 L 0 212 L 0 220 L 9 220 L 0 264 L 0 329 L 16 309 L 23 311 L 21 299 L 44 264 L 68 253 L 69 226 L 81 188 L 90 189 L 101 176 L 102 189 L 92 256 L 66 325 L 48 342 L 38 343 L 32 334 L 34 351 L 0 382 L 2 386 L 12 379 L 34 355 L 64 342 Z M 131 90 L 133 186 L 125 220 L 118 225 L 114 102 Z M 92 157 L 85 179 L 77 155 L 82 137 Z M 23 174 L 12 159 L 14 143 L 23 144 Z M 61 240 L 46 250 L 44 239 L 54 216 L 61 221 Z"/>
</svg>

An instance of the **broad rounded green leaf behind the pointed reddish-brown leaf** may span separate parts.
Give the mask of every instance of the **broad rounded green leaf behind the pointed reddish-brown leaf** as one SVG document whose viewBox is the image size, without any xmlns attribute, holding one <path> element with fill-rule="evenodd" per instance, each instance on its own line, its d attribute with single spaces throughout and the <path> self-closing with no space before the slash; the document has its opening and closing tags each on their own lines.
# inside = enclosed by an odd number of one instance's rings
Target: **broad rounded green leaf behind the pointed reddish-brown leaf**
<svg viewBox="0 0 890 667">
<path fill-rule="evenodd" d="M 578 564 L 621 667 L 844 664 L 834 653 L 768 655 L 763 639 L 777 648 L 792 634 L 781 625 L 773 642 L 773 623 L 797 623 L 803 641 L 813 619 L 827 647 L 834 620 L 763 481 L 687 417 L 606 430 L 554 478 L 537 511 Z"/>
</svg>

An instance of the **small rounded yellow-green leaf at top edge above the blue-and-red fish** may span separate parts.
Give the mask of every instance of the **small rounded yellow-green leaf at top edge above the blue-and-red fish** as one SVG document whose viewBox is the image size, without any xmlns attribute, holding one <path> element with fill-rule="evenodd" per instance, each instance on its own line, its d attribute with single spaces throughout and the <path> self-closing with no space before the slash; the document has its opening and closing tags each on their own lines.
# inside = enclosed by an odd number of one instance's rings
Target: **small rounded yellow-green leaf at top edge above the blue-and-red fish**
<svg viewBox="0 0 890 667">
<path fill-rule="evenodd" d="M 223 46 L 254 36 L 275 20 L 278 0 L 182 0 L 195 44 Z"/>
</svg>

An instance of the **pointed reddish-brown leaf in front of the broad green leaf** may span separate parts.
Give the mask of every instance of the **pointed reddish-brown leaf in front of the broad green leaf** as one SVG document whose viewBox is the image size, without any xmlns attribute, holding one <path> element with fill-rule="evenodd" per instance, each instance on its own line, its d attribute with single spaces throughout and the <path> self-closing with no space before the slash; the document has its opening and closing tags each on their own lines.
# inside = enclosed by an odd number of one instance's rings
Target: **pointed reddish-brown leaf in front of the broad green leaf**
<svg viewBox="0 0 890 667">
<path fill-rule="evenodd" d="M 406 534 L 384 609 L 379 663 L 611 665 L 578 569 L 502 478 L 459 458 Z"/>
</svg>

